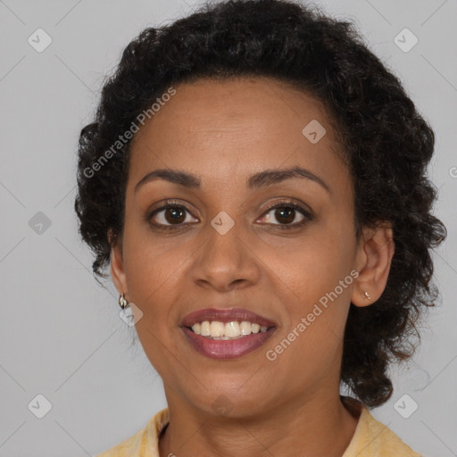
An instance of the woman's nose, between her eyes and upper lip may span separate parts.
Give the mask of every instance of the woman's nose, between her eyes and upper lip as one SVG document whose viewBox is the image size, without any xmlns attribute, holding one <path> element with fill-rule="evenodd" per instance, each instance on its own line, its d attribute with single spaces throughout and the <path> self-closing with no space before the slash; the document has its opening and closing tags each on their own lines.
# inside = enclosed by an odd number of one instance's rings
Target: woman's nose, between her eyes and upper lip
<svg viewBox="0 0 457 457">
<path fill-rule="evenodd" d="M 195 284 L 228 292 L 259 281 L 261 261 L 254 253 L 252 238 L 242 234 L 239 225 L 235 223 L 224 235 L 211 225 L 204 230 L 204 244 L 195 253 L 190 270 Z"/>
</svg>

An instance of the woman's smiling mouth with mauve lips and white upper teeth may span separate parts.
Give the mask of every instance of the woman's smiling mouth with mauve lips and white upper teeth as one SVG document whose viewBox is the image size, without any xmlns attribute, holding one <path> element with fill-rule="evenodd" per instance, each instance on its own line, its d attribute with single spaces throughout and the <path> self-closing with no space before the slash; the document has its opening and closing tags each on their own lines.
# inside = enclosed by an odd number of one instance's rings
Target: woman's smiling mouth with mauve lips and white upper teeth
<svg viewBox="0 0 457 457">
<path fill-rule="evenodd" d="M 192 312 L 179 327 L 197 352 L 213 359 L 233 359 L 251 353 L 277 328 L 271 320 L 241 308 Z"/>
</svg>

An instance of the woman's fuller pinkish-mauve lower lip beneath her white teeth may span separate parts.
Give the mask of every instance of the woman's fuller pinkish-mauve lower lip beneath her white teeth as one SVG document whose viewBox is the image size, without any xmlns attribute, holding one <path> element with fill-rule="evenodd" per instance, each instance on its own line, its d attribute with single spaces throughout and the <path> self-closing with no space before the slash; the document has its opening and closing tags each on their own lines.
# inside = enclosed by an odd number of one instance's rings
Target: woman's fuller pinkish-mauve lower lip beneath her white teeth
<svg viewBox="0 0 457 457">
<path fill-rule="evenodd" d="M 261 347 L 275 331 L 275 328 L 272 327 L 266 332 L 252 333 L 237 339 L 211 339 L 196 335 L 187 327 L 181 327 L 181 329 L 187 337 L 187 341 L 196 351 L 212 359 L 235 359 L 246 353 L 252 353 Z"/>
</svg>

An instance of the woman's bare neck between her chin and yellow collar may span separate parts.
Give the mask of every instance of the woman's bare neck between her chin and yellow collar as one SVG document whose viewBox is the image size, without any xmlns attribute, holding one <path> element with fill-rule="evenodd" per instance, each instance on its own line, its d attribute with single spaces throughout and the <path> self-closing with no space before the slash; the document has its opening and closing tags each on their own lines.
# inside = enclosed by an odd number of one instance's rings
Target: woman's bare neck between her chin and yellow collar
<svg viewBox="0 0 457 457">
<path fill-rule="evenodd" d="M 169 401 L 170 424 L 159 439 L 161 457 L 271 455 L 341 457 L 351 442 L 359 411 L 339 394 L 313 393 L 302 402 L 282 403 L 262 415 L 215 416 Z"/>
</svg>

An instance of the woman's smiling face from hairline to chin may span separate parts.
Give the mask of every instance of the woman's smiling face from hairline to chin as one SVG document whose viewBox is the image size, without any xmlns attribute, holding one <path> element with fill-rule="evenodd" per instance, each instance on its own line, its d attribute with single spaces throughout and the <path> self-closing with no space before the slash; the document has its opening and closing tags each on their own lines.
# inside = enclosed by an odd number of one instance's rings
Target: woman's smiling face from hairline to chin
<svg viewBox="0 0 457 457">
<path fill-rule="evenodd" d="M 328 117 L 311 96 L 273 79 L 175 88 L 134 137 L 122 249 L 112 252 L 113 279 L 143 312 L 137 334 L 169 404 L 214 414 L 225 403 L 243 415 L 325 398 L 339 386 L 351 271 L 365 259 Z M 307 171 L 252 179 L 294 167 Z M 193 186 L 142 181 L 158 169 L 192 174 Z M 177 208 L 160 210 L 168 200 Z M 274 328 L 249 353 L 230 352 L 242 338 L 220 340 L 228 356 L 212 357 L 181 327 L 207 308 L 246 309 Z"/>
</svg>

